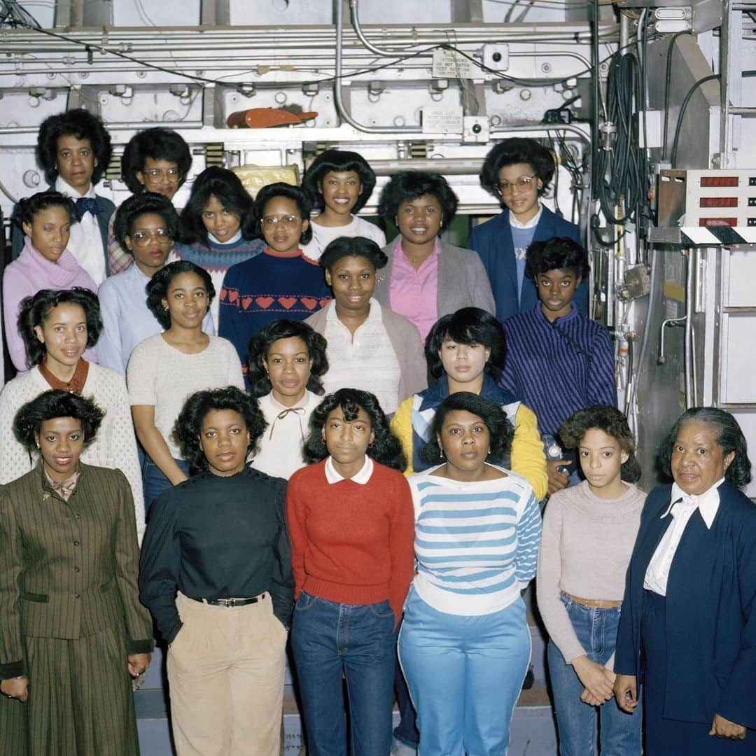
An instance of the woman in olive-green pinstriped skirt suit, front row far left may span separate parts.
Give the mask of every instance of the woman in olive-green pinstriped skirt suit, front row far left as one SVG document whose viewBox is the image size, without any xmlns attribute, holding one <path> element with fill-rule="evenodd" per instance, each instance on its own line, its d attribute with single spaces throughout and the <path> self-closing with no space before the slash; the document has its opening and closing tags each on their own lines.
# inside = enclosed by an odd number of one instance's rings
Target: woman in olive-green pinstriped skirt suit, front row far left
<svg viewBox="0 0 756 756">
<path fill-rule="evenodd" d="M 3 751 L 139 753 L 131 678 L 147 669 L 131 488 L 79 462 L 103 412 L 54 390 L 20 408 L 14 433 L 39 463 L 0 489 Z"/>
</svg>

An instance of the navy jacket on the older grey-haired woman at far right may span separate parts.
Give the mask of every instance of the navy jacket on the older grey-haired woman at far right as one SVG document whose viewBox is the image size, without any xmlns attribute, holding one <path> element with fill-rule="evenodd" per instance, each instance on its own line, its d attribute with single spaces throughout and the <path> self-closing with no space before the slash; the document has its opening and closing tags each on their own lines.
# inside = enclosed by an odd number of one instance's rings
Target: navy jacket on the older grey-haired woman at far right
<svg viewBox="0 0 756 756">
<path fill-rule="evenodd" d="M 646 569 L 672 516 L 671 485 L 646 499 L 627 568 L 615 672 L 643 680 L 640 621 Z M 719 487 L 711 529 L 693 513 L 667 584 L 664 716 L 711 724 L 714 714 L 756 729 L 756 505 L 734 485 Z"/>
</svg>

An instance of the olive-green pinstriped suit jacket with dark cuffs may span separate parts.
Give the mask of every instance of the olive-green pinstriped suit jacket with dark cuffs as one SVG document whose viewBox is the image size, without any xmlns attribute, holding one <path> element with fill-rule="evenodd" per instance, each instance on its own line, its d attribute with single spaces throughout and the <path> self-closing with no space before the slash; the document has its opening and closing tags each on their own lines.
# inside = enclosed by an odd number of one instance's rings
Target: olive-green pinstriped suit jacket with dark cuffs
<svg viewBox="0 0 756 756">
<path fill-rule="evenodd" d="M 0 488 L 0 679 L 22 674 L 25 636 L 76 639 L 123 623 L 129 653 L 152 649 L 129 482 L 118 469 L 79 470 L 68 501 L 41 463 Z"/>
</svg>

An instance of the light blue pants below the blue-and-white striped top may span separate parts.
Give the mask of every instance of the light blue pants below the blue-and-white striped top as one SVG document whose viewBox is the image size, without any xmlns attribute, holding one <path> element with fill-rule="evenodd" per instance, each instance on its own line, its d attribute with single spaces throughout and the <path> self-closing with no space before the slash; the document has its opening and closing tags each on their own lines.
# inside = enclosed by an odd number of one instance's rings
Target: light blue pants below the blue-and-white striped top
<svg viewBox="0 0 756 756">
<path fill-rule="evenodd" d="M 417 709 L 418 756 L 506 756 L 530 651 L 521 598 L 467 617 L 437 612 L 411 589 L 399 661 Z"/>
</svg>

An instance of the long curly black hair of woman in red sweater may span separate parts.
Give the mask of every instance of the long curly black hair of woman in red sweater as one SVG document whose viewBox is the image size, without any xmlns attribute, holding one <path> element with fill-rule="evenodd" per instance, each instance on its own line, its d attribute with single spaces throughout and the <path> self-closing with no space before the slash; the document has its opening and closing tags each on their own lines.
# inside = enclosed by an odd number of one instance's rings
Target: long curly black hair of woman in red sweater
<svg viewBox="0 0 756 756">
<path fill-rule="evenodd" d="M 310 417 L 310 434 L 305 442 L 304 455 L 308 463 L 320 462 L 328 456 L 328 450 L 323 441 L 323 428 L 328 415 L 341 407 L 344 420 L 355 420 L 360 408 L 370 417 L 370 427 L 373 430 L 373 445 L 367 454 L 376 462 L 392 467 L 399 472 L 407 469 L 407 457 L 401 449 L 399 439 L 389 428 L 389 421 L 380 408 L 375 395 L 369 391 L 359 389 L 339 389 L 333 394 L 327 394 L 323 401 L 315 407 Z"/>
</svg>

